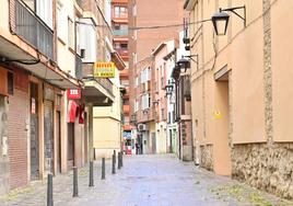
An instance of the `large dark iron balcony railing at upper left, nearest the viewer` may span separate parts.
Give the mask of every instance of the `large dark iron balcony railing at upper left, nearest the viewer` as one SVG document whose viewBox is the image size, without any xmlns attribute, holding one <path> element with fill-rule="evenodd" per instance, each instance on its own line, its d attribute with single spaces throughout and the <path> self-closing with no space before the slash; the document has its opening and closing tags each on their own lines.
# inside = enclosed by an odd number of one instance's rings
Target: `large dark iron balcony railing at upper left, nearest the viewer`
<svg viewBox="0 0 293 206">
<path fill-rule="evenodd" d="M 15 0 L 15 33 L 52 59 L 52 31 L 22 0 Z"/>
</svg>

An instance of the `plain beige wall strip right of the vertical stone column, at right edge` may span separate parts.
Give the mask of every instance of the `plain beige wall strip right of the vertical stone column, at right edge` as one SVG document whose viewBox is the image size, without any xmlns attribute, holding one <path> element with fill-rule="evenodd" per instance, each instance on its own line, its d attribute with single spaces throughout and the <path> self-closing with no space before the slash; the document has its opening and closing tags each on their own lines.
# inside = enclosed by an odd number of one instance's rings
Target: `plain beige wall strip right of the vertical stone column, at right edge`
<svg viewBox="0 0 293 206">
<path fill-rule="evenodd" d="M 293 140 L 293 2 L 279 0 L 271 10 L 273 140 Z"/>
</svg>

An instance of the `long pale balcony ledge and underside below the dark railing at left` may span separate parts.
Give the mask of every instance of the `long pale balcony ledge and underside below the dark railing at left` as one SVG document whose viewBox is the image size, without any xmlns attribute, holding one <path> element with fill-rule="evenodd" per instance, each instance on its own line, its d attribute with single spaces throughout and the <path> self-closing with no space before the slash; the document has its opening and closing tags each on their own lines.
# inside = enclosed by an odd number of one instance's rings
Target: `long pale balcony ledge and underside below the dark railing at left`
<svg viewBox="0 0 293 206">
<path fill-rule="evenodd" d="M 17 46 L 20 45 L 20 46 Z M 0 31 L 0 61 L 14 62 L 32 75 L 61 89 L 80 88 L 82 82 L 66 73 L 57 64 L 46 56 L 39 55 L 34 47 L 26 44 L 17 36 L 5 35 Z M 34 65 L 24 65 L 23 60 L 35 61 Z"/>
</svg>

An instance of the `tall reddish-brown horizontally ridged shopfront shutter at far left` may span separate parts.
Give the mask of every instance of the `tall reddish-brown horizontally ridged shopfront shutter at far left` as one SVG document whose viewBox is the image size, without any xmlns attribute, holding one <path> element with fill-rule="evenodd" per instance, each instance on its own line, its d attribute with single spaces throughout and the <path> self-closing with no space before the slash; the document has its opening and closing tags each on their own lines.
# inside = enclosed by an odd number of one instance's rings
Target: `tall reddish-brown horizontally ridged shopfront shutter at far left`
<svg viewBox="0 0 293 206">
<path fill-rule="evenodd" d="M 27 184 L 27 119 L 28 93 L 15 89 L 8 112 L 10 188 Z"/>
</svg>

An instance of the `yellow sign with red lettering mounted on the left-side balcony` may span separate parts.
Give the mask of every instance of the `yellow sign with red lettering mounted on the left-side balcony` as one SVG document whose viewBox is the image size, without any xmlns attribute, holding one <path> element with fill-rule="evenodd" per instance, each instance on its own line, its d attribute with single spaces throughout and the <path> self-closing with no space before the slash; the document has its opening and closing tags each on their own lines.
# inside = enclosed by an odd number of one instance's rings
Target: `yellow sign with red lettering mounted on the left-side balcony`
<svg viewBox="0 0 293 206">
<path fill-rule="evenodd" d="M 95 78 L 114 78 L 115 64 L 114 62 L 95 62 L 94 65 Z"/>
</svg>

